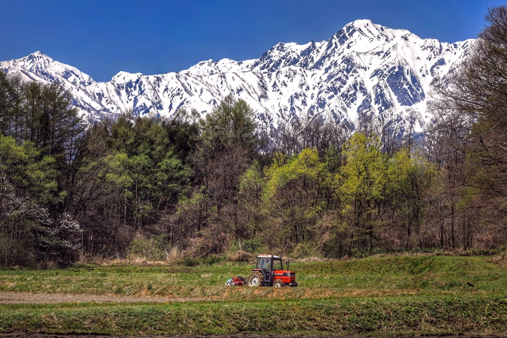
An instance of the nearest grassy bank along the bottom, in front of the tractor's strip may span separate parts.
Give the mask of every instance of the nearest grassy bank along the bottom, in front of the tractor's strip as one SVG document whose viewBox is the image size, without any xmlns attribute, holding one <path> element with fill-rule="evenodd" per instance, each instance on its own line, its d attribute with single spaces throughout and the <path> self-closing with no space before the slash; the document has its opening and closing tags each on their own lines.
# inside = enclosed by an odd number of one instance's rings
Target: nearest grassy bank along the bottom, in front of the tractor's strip
<svg viewBox="0 0 507 338">
<path fill-rule="evenodd" d="M 115 335 L 502 335 L 507 297 L 0 306 L 0 332 Z"/>
</svg>

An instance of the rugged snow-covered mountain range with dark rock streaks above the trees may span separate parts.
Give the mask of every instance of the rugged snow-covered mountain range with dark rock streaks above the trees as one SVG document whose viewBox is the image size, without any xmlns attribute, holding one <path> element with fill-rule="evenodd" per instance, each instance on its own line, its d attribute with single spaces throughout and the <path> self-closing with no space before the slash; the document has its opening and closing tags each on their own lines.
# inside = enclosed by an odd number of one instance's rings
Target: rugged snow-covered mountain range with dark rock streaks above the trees
<svg viewBox="0 0 507 338">
<path fill-rule="evenodd" d="M 95 82 L 41 52 L 2 61 L 0 67 L 27 80 L 64 83 L 74 94 L 74 104 L 91 119 L 126 108 L 169 117 L 182 107 L 206 114 L 233 93 L 256 110 L 259 119 L 274 125 L 303 116 L 354 123 L 358 112 L 381 114 L 389 108 L 403 118 L 413 107 L 423 128 L 430 118 L 425 105 L 431 81 L 456 67 L 471 42 L 423 40 L 407 30 L 357 20 L 328 41 L 279 43 L 259 59 L 208 60 L 150 76 L 122 71 L 110 82 Z"/>
</svg>

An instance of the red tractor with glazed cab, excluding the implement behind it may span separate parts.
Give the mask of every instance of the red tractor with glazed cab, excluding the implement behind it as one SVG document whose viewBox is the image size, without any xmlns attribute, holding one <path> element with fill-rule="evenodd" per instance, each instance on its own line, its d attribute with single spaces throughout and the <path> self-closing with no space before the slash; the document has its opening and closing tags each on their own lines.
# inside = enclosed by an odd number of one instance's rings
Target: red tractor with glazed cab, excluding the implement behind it
<svg viewBox="0 0 507 338">
<path fill-rule="evenodd" d="M 282 259 L 274 255 L 257 256 L 257 265 L 247 281 L 248 286 L 298 286 L 296 273 L 288 271 L 288 260 L 287 270 L 283 270 Z"/>
</svg>

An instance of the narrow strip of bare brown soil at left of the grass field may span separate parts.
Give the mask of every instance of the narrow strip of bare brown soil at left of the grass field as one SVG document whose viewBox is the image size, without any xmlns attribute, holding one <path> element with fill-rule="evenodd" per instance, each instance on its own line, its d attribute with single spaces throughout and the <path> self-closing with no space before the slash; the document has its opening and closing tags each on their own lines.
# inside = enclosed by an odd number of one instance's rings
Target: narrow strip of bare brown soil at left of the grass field
<svg viewBox="0 0 507 338">
<path fill-rule="evenodd" d="M 48 304 L 48 303 L 173 303 L 197 302 L 206 299 L 197 298 L 163 298 L 163 297 L 128 297 L 106 296 L 94 294 L 62 294 L 62 293 L 24 293 L 0 292 L 0 304 Z"/>
</svg>

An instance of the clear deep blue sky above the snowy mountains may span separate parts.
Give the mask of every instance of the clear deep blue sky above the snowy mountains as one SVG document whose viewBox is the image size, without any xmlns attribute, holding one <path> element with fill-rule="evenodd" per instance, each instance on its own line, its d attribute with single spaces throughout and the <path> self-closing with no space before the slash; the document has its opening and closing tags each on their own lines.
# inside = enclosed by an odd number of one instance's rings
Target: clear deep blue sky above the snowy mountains
<svg viewBox="0 0 507 338">
<path fill-rule="evenodd" d="M 96 81 L 199 61 L 260 57 L 279 42 L 328 40 L 371 19 L 456 42 L 484 27 L 498 0 L 0 0 L 0 60 L 41 51 Z"/>
</svg>

